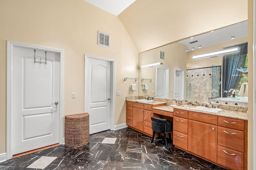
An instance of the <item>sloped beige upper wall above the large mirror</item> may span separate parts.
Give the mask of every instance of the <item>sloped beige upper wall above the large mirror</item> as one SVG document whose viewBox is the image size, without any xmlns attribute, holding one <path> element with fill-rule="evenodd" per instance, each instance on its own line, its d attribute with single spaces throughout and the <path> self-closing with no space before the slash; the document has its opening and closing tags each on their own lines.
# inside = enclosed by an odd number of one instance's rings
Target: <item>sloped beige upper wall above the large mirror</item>
<svg viewBox="0 0 256 170">
<path fill-rule="evenodd" d="M 245 21 L 247 8 L 247 0 L 136 0 L 118 17 L 143 52 Z"/>
</svg>

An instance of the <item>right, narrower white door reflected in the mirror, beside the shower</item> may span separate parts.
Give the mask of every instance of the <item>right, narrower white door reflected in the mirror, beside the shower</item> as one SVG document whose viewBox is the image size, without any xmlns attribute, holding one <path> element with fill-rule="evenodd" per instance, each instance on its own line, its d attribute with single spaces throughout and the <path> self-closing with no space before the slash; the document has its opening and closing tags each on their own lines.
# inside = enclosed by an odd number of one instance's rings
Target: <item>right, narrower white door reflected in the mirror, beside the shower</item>
<svg viewBox="0 0 256 170">
<path fill-rule="evenodd" d="M 175 69 L 174 99 L 184 100 L 184 70 Z"/>
</svg>

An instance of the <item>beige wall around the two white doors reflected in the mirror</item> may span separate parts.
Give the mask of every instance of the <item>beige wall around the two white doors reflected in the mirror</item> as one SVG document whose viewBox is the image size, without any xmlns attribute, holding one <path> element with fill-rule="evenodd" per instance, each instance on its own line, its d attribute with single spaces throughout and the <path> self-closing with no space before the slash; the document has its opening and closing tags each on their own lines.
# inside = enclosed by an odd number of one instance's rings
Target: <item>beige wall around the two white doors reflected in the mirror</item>
<svg viewBox="0 0 256 170">
<path fill-rule="evenodd" d="M 159 50 L 165 52 L 165 60 L 159 59 Z M 181 43 L 172 43 L 145 51 L 140 53 L 139 64 L 140 66 L 152 63 L 163 63 L 160 67 L 170 68 L 170 83 L 169 83 L 169 98 L 174 98 L 174 68 L 184 70 L 184 76 L 186 76 L 186 45 Z M 152 90 L 156 90 L 156 67 L 139 68 L 139 78 L 152 78 L 152 82 L 144 80 L 139 81 L 139 95 L 140 96 L 156 96 L 152 93 Z M 185 78 L 184 78 L 185 79 Z M 184 82 L 186 84 L 186 82 Z M 149 90 L 142 90 L 141 84 L 148 84 Z M 184 85 L 184 92 L 185 90 Z"/>
</svg>

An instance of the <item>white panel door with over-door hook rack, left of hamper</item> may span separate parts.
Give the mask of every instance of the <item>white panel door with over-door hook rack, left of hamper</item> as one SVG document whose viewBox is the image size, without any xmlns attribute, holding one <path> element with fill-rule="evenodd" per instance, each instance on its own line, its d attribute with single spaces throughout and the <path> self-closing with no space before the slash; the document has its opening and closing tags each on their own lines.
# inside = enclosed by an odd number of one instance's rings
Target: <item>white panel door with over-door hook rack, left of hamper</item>
<svg viewBox="0 0 256 170">
<path fill-rule="evenodd" d="M 36 51 L 45 62 L 45 51 Z M 11 153 L 59 143 L 60 54 L 46 53 L 34 63 L 34 49 L 13 49 Z"/>
</svg>

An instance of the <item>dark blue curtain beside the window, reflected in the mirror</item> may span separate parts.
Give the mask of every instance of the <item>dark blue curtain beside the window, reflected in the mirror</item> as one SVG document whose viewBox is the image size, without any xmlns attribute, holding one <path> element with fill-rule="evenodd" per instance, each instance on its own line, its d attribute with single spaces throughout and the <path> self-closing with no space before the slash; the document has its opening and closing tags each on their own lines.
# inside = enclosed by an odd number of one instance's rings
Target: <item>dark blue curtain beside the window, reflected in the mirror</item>
<svg viewBox="0 0 256 170">
<path fill-rule="evenodd" d="M 240 51 L 237 53 L 230 53 L 223 55 L 223 76 L 222 76 L 222 91 L 228 91 L 230 88 L 236 89 L 242 72 L 236 68 L 244 67 L 246 55 L 248 53 L 248 43 L 227 47 L 224 49 L 231 49 L 239 47 Z M 222 93 L 222 97 L 226 97 L 227 93 Z"/>
</svg>

